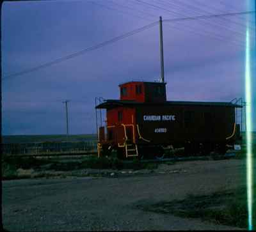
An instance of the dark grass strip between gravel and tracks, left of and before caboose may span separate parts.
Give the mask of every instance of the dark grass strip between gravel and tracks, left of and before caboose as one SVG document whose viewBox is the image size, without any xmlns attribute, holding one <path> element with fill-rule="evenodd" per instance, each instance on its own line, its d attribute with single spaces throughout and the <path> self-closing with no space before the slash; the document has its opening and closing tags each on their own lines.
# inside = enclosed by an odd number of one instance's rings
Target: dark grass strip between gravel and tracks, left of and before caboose
<svg viewBox="0 0 256 232">
<path fill-rule="evenodd" d="M 101 157 L 86 157 L 83 160 L 56 160 L 56 159 L 36 159 L 34 157 L 11 158 L 8 156 L 2 157 L 2 179 L 12 180 L 19 178 L 36 178 L 49 177 L 47 171 L 58 172 L 74 171 L 78 169 L 156 169 L 158 164 L 155 163 L 141 163 L 140 160 L 134 159 L 132 162 L 124 162 L 115 157 L 107 158 Z M 37 174 L 36 174 L 37 173 Z M 52 173 L 52 172 L 51 172 Z M 52 173 L 52 176 L 56 174 Z M 61 174 L 61 173 L 59 173 Z"/>
</svg>

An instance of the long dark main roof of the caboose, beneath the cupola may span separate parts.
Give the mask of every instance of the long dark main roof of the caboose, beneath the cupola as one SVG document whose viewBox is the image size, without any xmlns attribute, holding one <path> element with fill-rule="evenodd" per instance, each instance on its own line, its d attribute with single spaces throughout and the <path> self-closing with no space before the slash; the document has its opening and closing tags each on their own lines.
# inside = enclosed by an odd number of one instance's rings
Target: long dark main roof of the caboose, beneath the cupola
<svg viewBox="0 0 256 232">
<path fill-rule="evenodd" d="M 135 102 L 134 100 L 105 100 L 102 104 L 97 105 L 96 109 L 113 109 L 120 106 L 136 107 L 140 105 L 204 105 L 204 106 L 223 106 L 242 108 L 241 105 L 232 104 L 231 102 L 182 102 L 182 101 L 166 101 L 166 102 Z"/>
</svg>

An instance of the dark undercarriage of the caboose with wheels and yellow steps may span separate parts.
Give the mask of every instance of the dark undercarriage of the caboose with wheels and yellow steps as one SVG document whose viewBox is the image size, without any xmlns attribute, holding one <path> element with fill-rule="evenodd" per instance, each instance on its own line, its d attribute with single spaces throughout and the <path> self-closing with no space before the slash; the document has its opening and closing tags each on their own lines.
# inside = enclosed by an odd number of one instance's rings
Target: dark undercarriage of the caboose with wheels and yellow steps
<svg viewBox="0 0 256 232">
<path fill-rule="evenodd" d="M 139 127 L 137 126 L 138 140 L 135 137 L 127 137 L 127 127 L 124 127 L 125 141 L 124 143 L 115 143 L 115 141 L 102 140 L 97 145 L 98 157 L 110 156 L 116 151 L 118 159 L 162 159 L 166 155 L 166 150 L 175 150 L 184 148 L 185 156 L 209 155 L 210 153 L 225 155 L 228 148 L 234 146 L 234 142 L 239 134 L 239 125 L 234 125 L 234 131 L 225 140 L 195 140 L 193 138 L 186 141 L 176 140 L 170 143 L 154 143 L 141 136 Z M 100 132 L 102 133 L 102 129 Z M 135 134 L 135 133 L 134 133 Z M 102 134 L 100 137 L 105 137 Z M 106 136 L 108 137 L 108 136 Z M 134 143 L 135 142 L 135 143 Z"/>
</svg>

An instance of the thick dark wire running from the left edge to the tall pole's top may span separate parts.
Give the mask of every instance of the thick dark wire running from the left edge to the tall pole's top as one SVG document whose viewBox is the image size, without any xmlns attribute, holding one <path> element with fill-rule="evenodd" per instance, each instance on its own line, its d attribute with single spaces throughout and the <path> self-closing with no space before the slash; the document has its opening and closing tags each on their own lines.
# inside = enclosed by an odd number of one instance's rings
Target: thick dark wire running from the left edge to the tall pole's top
<svg viewBox="0 0 256 232">
<path fill-rule="evenodd" d="M 38 65 L 34 68 L 29 68 L 28 70 L 24 70 L 24 71 L 17 72 L 17 73 L 12 73 L 12 74 L 9 74 L 9 75 L 4 75 L 3 79 L 9 78 L 9 77 L 15 77 L 17 75 L 23 75 L 23 74 L 29 73 L 29 72 L 34 72 L 34 71 L 36 71 L 40 68 L 46 68 L 47 66 L 51 66 L 51 65 L 54 65 L 56 63 L 60 63 L 60 62 L 65 61 L 67 59 L 71 59 L 71 58 L 74 58 L 76 56 L 81 56 L 82 54 L 84 54 L 86 52 L 90 52 L 92 50 L 99 49 L 100 47 L 104 47 L 104 46 L 109 45 L 111 43 L 118 42 L 119 40 L 123 40 L 124 38 L 127 38 L 128 36 L 132 36 L 132 35 L 135 35 L 136 33 L 140 33 L 141 31 L 145 31 L 146 29 L 148 29 L 150 27 L 156 26 L 156 24 L 158 24 L 158 21 L 157 22 L 152 22 L 151 24 L 148 24 L 146 26 L 135 29 L 134 31 L 130 31 L 129 33 L 125 33 L 124 35 L 120 35 L 120 36 L 117 36 L 115 38 L 112 38 L 111 40 L 107 40 L 107 41 L 99 43 L 97 45 L 93 45 L 93 46 L 88 47 L 86 49 L 80 50 L 79 52 L 74 52 L 73 54 L 70 54 L 68 56 L 64 56 L 63 58 L 55 59 L 54 61 L 44 63 L 43 65 Z"/>
</svg>

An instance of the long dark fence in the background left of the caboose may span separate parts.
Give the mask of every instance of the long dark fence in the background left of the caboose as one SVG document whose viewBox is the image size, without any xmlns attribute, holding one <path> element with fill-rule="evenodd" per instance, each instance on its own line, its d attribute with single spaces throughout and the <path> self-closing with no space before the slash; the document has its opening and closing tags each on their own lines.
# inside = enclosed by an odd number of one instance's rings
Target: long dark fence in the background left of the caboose
<svg viewBox="0 0 256 232">
<path fill-rule="evenodd" d="M 97 150 L 97 141 L 83 141 L 70 143 L 11 143 L 2 144 L 4 154 L 40 154 L 40 153 L 62 153 L 83 152 Z"/>
</svg>

